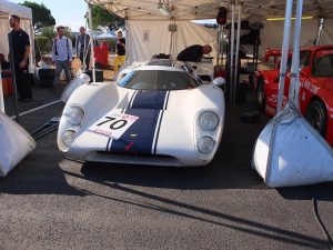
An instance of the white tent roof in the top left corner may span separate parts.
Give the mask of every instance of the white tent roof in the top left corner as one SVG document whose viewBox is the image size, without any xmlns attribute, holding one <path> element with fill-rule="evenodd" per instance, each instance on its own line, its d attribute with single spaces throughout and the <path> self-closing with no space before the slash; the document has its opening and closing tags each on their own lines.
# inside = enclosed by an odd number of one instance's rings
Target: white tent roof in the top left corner
<svg viewBox="0 0 333 250">
<path fill-rule="evenodd" d="M 0 1 L 0 18 L 8 19 L 9 14 L 17 14 L 21 19 L 32 19 L 32 11 L 28 7 L 23 7 L 7 0 Z"/>
</svg>

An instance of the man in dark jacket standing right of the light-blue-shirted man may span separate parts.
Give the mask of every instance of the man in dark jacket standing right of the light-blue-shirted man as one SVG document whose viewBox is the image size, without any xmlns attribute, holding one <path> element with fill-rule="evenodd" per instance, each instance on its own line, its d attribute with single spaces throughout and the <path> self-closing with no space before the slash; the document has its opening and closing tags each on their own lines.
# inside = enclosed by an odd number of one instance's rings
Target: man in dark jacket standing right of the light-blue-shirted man
<svg viewBox="0 0 333 250">
<path fill-rule="evenodd" d="M 80 34 L 78 34 L 77 41 L 75 41 L 75 52 L 77 52 L 77 57 L 80 58 L 80 60 L 81 60 L 81 69 L 82 70 L 84 70 L 84 69 L 89 70 L 89 64 L 90 64 L 90 36 L 88 33 L 85 33 L 84 27 L 80 27 Z M 85 67 L 83 66 L 83 63 L 85 63 Z"/>
</svg>

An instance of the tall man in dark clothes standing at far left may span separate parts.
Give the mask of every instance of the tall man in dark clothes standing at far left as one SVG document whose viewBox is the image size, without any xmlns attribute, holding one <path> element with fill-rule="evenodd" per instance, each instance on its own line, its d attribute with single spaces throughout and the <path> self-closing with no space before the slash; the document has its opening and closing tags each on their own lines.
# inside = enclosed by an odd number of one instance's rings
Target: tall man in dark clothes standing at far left
<svg viewBox="0 0 333 250">
<path fill-rule="evenodd" d="M 31 82 L 28 72 L 30 40 L 29 34 L 20 27 L 20 18 L 11 14 L 9 24 L 12 28 L 10 36 L 12 38 L 12 53 L 14 63 L 14 73 L 19 101 L 28 102 L 32 99 Z"/>
</svg>

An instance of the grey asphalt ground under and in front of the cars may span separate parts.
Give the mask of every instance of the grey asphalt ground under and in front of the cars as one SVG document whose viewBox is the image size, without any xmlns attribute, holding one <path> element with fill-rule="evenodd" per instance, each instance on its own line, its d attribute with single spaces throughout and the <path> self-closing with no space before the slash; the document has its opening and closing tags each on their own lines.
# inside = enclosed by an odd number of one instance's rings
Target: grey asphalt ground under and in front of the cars
<svg viewBox="0 0 333 250">
<path fill-rule="evenodd" d="M 39 86 L 20 112 L 59 100 Z M 6 110 L 13 112 L 12 97 Z M 33 132 L 62 102 L 24 114 Z M 222 142 L 203 168 L 80 163 L 64 159 L 57 132 L 0 179 L 0 249 L 330 249 L 314 204 L 333 236 L 333 183 L 271 189 L 251 169 L 253 144 L 270 120 L 226 107 Z"/>
</svg>

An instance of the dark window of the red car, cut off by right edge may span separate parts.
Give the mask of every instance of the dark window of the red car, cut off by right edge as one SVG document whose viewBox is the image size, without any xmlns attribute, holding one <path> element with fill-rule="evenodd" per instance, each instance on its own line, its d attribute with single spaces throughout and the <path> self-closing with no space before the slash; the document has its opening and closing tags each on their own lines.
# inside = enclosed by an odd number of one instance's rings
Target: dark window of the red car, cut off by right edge
<svg viewBox="0 0 333 250">
<path fill-rule="evenodd" d="M 316 52 L 312 67 L 313 77 L 333 77 L 333 50 L 330 51 Z"/>
</svg>

